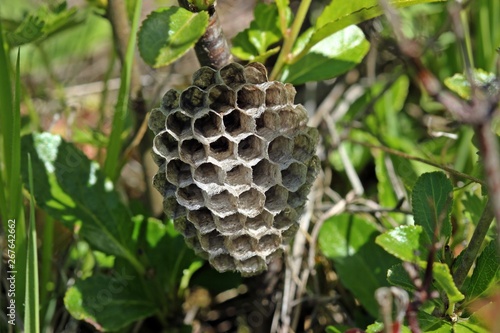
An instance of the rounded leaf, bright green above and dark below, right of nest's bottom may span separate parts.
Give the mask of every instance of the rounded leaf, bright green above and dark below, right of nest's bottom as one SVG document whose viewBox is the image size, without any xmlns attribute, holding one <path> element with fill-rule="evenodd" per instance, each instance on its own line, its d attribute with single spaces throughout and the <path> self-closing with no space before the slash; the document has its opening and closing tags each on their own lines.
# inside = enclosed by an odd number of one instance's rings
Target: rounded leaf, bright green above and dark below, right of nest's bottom
<svg viewBox="0 0 500 333">
<path fill-rule="evenodd" d="M 345 287 L 374 317 L 378 314 L 375 290 L 389 285 L 387 270 L 397 263 L 396 258 L 375 244 L 378 234 L 368 221 L 342 214 L 325 222 L 318 240 L 322 252 L 335 263 Z"/>
</svg>

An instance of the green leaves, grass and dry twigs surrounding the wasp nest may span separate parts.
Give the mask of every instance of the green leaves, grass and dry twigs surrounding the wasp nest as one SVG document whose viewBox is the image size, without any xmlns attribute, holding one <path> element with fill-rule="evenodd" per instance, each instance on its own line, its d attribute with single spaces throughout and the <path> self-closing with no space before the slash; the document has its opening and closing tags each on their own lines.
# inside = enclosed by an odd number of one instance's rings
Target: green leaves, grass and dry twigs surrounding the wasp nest
<svg viewBox="0 0 500 333">
<path fill-rule="evenodd" d="M 251 278 L 196 257 L 151 187 L 148 112 L 210 16 L 180 4 L 0 3 L 0 331 L 500 332 L 500 3 L 217 2 L 321 136 L 300 231 Z"/>
</svg>

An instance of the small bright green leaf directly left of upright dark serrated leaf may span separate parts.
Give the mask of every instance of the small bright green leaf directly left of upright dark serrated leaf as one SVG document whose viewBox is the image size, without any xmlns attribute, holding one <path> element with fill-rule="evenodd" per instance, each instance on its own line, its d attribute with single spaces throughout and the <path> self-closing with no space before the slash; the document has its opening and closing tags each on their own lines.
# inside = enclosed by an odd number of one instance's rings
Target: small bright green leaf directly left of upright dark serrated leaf
<svg viewBox="0 0 500 333">
<path fill-rule="evenodd" d="M 377 237 L 376 243 L 393 256 L 414 263 L 427 260 L 430 245 L 419 225 L 403 225 L 386 231 Z"/>
</svg>

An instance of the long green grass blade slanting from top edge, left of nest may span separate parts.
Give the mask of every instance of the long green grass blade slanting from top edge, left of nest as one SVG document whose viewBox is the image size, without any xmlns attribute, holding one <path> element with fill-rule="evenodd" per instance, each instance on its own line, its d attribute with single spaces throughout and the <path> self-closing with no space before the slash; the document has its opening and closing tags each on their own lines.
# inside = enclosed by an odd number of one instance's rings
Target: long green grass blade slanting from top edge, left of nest
<svg viewBox="0 0 500 333">
<path fill-rule="evenodd" d="M 121 84 L 118 92 L 118 101 L 116 102 L 115 114 L 113 116 L 113 128 L 108 143 L 108 151 L 106 161 L 104 162 L 104 172 L 112 180 L 116 180 L 119 176 L 119 169 L 121 164 L 120 152 L 123 145 L 123 130 L 125 121 L 127 119 L 128 99 L 130 95 L 130 80 L 132 75 L 132 65 L 134 62 L 134 50 L 137 29 L 139 26 L 139 19 L 141 14 L 142 0 L 135 2 L 134 18 L 132 20 L 132 27 L 130 37 L 127 45 L 127 52 L 125 61 L 122 64 Z"/>
</svg>

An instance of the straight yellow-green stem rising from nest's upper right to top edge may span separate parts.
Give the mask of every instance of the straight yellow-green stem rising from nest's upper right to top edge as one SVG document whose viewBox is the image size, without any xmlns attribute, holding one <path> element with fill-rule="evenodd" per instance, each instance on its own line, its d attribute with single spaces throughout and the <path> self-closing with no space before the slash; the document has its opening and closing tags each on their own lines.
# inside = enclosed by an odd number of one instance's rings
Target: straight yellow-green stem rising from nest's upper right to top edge
<svg viewBox="0 0 500 333">
<path fill-rule="evenodd" d="M 273 70 L 271 71 L 271 75 L 269 77 L 270 80 L 276 80 L 281 75 L 283 66 L 291 60 L 290 58 L 293 45 L 295 44 L 295 40 L 299 35 L 300 28 L 304 23 L 311 2 L 312 0 L 304 0 L 300 2 L 300 6 L 297 10 L 295 20 L 293 20 L 292 27 L 284 36 L 285 42 L 283 43 L 283 48 L 281 49 L 280 54 L 278 55 L 278 60 L 276 61 Z"/>
</svg>

